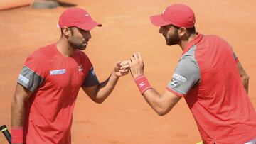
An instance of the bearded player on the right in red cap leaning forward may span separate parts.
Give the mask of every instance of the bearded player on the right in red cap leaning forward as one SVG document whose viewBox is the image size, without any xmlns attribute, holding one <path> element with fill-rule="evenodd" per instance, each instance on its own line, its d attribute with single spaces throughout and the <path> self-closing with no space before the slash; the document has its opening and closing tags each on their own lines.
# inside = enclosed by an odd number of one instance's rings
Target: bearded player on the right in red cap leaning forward
<svg viewBox="0 0 256 144">
<path fill-rule="evenodd" d="M 184 4 L 173 4 L 150 19 L 166 44 L 179 45 L 183 52 L 164 94 L 146 80 L 142 56 L 132 55 L 130 70 L 146 102 L 164 116 L 184 98 L 203 143 L 255 144 L 256 112 L 247 96 L 248 76 L 231 46 L 216 35 L 196 33 L 195 15 Z"/>
</svg>

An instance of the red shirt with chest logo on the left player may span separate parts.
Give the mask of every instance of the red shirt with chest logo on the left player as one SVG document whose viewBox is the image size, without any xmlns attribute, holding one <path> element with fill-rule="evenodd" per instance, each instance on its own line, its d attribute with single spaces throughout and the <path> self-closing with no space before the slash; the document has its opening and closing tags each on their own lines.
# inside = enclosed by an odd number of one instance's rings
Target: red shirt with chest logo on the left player
<svg viewBox="0 0 256 144">
<path fill-rule="evenodd" d="M 64 57 L 53 44 L 33 52 L 18 77 L 18 84 L 33 92 L 26 102 L 24 143 L 70 144 L 79 89 L 98 83 L 89 58 L 80 50 Z"/>
</svg>

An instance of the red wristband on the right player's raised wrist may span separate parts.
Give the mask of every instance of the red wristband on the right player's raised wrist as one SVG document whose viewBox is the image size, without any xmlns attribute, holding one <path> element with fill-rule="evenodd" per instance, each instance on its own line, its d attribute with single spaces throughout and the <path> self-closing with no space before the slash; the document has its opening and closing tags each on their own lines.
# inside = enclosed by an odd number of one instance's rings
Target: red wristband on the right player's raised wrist
<svg viewBox="0 0 256 144">
<path fill-rule="evenodd" d="M 144 74 L 140 75 L 139 77 L 136 77 L 134 80 L 141 94 L 143 94 L 147 89 L 152 88 L 151 85 L 149 84 L 149 81 L 144 76 Z"/>
</svg>

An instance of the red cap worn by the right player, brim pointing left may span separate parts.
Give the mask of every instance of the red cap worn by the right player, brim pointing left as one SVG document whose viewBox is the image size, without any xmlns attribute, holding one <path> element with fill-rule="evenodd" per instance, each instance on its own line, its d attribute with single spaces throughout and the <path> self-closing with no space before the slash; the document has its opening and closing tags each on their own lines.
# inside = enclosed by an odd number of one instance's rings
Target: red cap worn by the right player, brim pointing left
<svg viewBox="0 0 256 144">
<path fill-rule="evenodd" d="M 196 22 L 193 10 L 185 4 L 173 4 L 167 7 L 160 15 L 151 16 L 154 26 L 174 25 L 184 28 L 193 28 Z"/>
</svg>

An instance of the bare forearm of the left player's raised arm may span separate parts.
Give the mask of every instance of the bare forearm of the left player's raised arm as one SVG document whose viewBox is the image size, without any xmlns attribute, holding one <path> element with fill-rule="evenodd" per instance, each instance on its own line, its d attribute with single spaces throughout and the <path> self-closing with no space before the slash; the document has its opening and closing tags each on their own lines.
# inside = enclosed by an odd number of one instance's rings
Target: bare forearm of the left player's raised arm
<svg viewBox="0 0 256 144">
<path fill-rule="evenodd" d="M 97 99 L 97 102 L 102 103 L 107 99 L 108 96 L 110 96 L 111 92 L 113 91 L 115 85 L 117 84 L 119 77 L 117 74 L 112 72 L 110 74 L 110 77 L 106 79 L 104 82 L 100 83 L 97 88 L 97 93 L 95 98 Z"/>
</svg>

